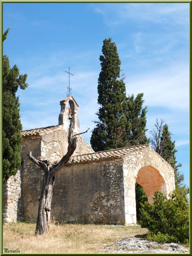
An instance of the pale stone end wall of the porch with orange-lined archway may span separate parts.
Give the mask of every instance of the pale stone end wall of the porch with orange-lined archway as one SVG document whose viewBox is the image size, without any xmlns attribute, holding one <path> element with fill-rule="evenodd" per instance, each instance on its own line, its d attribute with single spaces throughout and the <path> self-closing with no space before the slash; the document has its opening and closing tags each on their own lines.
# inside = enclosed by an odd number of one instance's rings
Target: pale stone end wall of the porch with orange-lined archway
<svg viewBox="0 0 192 256">
<path fill-rule="evenodd" d="M 153 202 L 154 192 L 168 196 L 175 189 L 174 169 L 150 146 L 129 154 L 123 162 L 125 223 L 136 223 L 135 183 L 143 187 L 148 201 Z"/>
</svg>

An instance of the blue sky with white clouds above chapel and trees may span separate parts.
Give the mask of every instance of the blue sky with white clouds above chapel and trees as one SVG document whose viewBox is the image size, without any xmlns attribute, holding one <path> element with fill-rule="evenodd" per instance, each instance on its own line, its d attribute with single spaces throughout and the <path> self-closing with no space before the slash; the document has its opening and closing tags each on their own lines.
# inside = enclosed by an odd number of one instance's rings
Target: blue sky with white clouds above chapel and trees
<svg viewBox="0 0 192 256">
<path fill-rule="evenodd" d="M 188 3 L 4 3 L 3 31 L 10 65 L 27 73 L 18 90 L 23 129 L 58 124 L 70 71 L 80 131 L 89 143 L 97 120 L 99 56 L 103 40 L 117 45 L 127 94 L 144 93 L 147 136 L 163 118 L 176 141 L 189 185 Z"/>
</svg>

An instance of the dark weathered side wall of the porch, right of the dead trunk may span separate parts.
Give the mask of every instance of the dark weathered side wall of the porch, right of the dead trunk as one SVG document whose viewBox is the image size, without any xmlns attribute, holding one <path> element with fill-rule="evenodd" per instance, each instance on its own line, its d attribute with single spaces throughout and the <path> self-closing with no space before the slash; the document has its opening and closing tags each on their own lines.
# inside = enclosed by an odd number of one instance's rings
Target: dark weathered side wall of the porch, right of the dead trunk
<svg viewBox="0 0 192 256">
<path fill-rule="evenodd" d="M 125 224 L 122 159 L 64 166 L 56 175 L 52 209 L 55 220 Z"/>
</svg>

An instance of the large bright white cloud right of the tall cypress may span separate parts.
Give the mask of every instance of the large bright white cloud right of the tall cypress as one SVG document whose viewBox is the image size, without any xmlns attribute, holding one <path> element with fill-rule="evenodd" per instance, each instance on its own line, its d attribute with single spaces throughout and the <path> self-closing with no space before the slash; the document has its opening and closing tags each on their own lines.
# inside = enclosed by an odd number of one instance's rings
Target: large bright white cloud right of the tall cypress
<svg viewBox="0 0 192 256">
<path fill-rule="evenodd" d="M 172 65 L 167 69 L 129 77 L 127 92 L 143 92 L 147 106 L 162 106 L 188 111 L 189 67 Z"/>
</svg>

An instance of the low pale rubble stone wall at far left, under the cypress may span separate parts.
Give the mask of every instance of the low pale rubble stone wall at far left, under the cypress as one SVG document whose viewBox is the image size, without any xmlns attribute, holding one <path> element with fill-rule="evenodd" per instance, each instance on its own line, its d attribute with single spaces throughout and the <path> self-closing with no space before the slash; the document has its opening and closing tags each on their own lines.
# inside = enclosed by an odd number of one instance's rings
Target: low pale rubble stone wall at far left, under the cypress
<svg viewBox="0 0 192 256">
<path fill-rule="evenodd" d="M 3 222 L 22 220 L 21 171 L 18 170 L 3 184 Z"/>
</svg>

